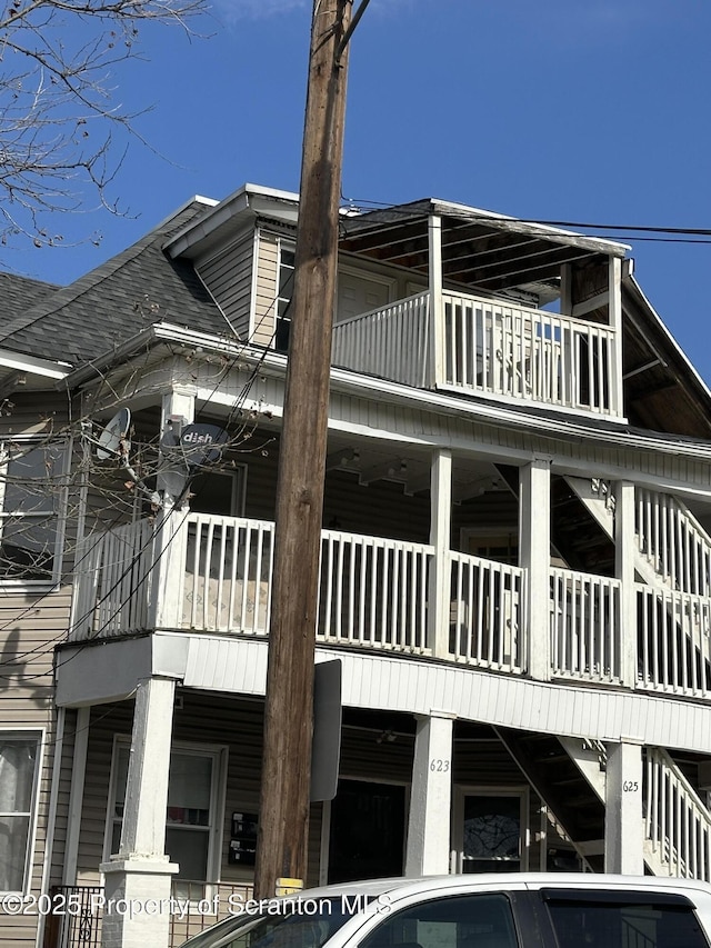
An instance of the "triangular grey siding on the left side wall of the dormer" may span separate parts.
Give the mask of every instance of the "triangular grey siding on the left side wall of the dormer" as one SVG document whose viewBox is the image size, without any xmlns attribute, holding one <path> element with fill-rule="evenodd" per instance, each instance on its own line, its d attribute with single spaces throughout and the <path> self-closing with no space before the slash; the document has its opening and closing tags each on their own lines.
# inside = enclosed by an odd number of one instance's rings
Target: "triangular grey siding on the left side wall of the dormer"
<svg viewBox="0 0 711 948">
<path fill-rule="evenodd" d="M 196 269 L 241 341 L 250 339 L 250 302 L 254 233 L 242 234 Z"/>
</svg>

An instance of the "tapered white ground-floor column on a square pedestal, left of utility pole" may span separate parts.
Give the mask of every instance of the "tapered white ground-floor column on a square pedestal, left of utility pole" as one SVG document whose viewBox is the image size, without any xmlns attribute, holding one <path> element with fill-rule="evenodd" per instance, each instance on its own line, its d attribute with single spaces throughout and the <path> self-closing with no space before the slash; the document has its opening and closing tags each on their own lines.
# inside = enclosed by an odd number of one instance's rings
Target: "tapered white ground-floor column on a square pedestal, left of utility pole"
<svg viewBox="0 0 711 948">
<path fill-rule="evenodd" d="M 178 866 L 166 855 L 166 809 L 176 682 L 139 681 L 133 711 L 119 852 L 104 874 L 103 948 L 167 948 L 170 882 Z M 163 910 L 154 910 L 162 906 Z"/>
</svg>

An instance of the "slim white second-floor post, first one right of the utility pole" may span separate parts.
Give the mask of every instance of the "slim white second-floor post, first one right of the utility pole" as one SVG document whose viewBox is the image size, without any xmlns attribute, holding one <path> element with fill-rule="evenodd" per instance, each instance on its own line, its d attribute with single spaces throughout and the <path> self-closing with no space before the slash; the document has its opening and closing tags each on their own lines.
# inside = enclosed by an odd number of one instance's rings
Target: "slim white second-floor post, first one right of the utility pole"
<svg viewBox="0 0 711 948">
<path fill-rule="evenodd" d="M 447 658 L 451 599 L 452 455 L 439 450 L 432 456 L 430 476 L 430 543 L 434 560 L 428 589 L 428 643 L 437 658 Z"/>
</svg>

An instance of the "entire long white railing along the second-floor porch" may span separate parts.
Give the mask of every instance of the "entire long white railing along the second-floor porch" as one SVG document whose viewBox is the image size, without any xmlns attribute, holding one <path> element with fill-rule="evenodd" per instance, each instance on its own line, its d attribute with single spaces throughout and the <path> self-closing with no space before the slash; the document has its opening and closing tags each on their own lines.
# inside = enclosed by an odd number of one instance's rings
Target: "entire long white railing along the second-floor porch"
<svg viewBox="0 0 711 948">
<path fill-rule="evenodd" d="M 164 622 L 158 617 L 168 612 L 157 607 L 168 597 L 170 628 L 266 636 L 273 529 L 264 520 L 189 513 L 173 533 L 178 562 L 169 588 L 157 580 L 161 556 L 151 522 L 91 536 L 77 558 L 71 639 L 149 630 Z M 433 548 L 324 530 L 319 640 L 527 673 L 537 648 L 531 635 L 540 630 L 528 628 L 525 570 L 460 552 L 448 557 L 449 596 L 437 601 L 449 602 L 449 615 L 440 616 L 449 641 L 435 653 Z M 558 568 L 549 576 L 549 641 L 540 647 L 550 650 L 552 677 L 711 697 L 711 598 L 635 583 L 637 623 L 627 630 L 627 650 L 637 651 L 637 676 L 623 682 L 619 580 Z"/>
</svg>

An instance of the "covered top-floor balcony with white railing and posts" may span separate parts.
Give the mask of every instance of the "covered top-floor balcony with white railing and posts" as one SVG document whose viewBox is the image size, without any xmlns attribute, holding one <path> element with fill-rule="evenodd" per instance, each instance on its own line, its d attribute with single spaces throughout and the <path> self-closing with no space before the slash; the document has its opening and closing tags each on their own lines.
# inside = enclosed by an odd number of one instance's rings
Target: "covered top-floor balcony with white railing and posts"
<svg viewBox="0 0 711 948">
<path fill-rule="evenodd" d="M 433 200 L 397 211 L 343 220 L 342 263 L 360 268 L 364 282 L 370 272 L 373 286 L 378 273 L 392 279 L 388 303 L 371 301 L 367 312 L 372 293 L 362 292 L 360 308 L 352 287 L 348 308 L 339 299 L 333 365 L 419 388 L 622 417 L 627 248 Z"/>
</svg>

